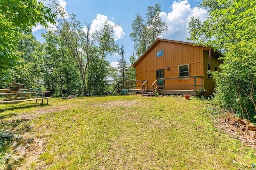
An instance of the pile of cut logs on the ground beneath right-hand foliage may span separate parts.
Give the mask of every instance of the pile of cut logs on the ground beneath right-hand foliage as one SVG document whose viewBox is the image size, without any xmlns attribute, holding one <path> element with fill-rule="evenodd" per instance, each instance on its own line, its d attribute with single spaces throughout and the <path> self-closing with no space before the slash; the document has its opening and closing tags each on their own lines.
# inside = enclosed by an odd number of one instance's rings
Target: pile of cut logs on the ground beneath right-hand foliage
<svg viewBox="0 0 256 170">
<path fill-rule="evenodd" d="M 256 126 L 247 119 L 227 118 L 224 119 L 228 125 L 237 131 L 243 132 L 250 139 L 256 140 Z"/>
</svg>

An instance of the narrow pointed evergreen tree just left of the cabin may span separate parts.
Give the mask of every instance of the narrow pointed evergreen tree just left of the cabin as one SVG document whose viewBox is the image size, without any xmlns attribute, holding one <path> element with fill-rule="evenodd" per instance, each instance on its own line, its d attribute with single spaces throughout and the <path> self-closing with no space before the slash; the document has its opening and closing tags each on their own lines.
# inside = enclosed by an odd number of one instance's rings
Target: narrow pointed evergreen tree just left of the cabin
<svg viewBox="0 0 256 170">
<path fill-rule="evenodd" d="M 127 65 L 127 61 L 124 58 L 124 47 L 123 45 L 120 48 L 119 51 L 119 55 L 121 56 L 121 59 L 118 60 L 119 64 L 118 64 L 118 78 L 119 80 L 122 80 L 123 82 L 125 82 L 127 80 L 127 70 L 128 70 L 128 65 Z"/>
</svg>

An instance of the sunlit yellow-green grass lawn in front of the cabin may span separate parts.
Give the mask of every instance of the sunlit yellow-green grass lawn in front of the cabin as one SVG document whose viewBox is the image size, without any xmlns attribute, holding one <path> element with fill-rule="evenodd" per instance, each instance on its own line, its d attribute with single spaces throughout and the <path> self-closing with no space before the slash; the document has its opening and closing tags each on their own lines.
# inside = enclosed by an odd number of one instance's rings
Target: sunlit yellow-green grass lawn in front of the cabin
<svg viewBox="0 0 256 170">
<path fill-rule="evenodd" d="M 16 164 L 0 161 L 0 166 L 24 170 L 247 170 L 256 163 L 255 149 L 216 129 L 206 111 L 207 101 L 198 98 L 130 95 L 53 98 L 48 103 L 0 105 L 0 132 L 34 137 L 25 160 Z M 13 154 L 12 150 L 5 149 L 0 158 Z"/>
</svg>

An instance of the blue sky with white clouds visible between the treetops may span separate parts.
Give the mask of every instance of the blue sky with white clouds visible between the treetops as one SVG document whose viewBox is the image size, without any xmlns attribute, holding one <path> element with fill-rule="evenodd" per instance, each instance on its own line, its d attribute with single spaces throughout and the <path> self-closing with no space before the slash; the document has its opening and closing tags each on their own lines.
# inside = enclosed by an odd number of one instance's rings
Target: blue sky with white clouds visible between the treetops
<svg viewBox="0 0 256 170">
<path fill-rule="evenodd" d="M 167 33 L 162 35 L 164 39 L 186 41 L 186 37 L 189 37 L 187 22 L 191 16 L 202 20 L 206 17 L 206 10 L 197 7 L 200 0 L 56 0 L 56 2 L 66 8 L 67 14 L 76 14 L 82 25 L 92 22 L 92 29 L 95 30 L 100 29 L 106 20 L 115 23 L 118 21 L 120 26 L 115 30 L 114 36 L 118 45 L 123 44 L 127 61 L 134 47 L 130 39 L 132 21 L 135 14 L 140 13 L 144 17 L 148 6 L 159 3 L 162 7 L 160 17 L 168 26 Z M 43 42 L 41 33 L 45 32 L 44 29 L 37 25 L 32 30 L 37 39 Z M 118 54 L 108 57 L 112 66 L 118 64 L 116 62 L 118 59 L 120 59 Z"/>
</svg>

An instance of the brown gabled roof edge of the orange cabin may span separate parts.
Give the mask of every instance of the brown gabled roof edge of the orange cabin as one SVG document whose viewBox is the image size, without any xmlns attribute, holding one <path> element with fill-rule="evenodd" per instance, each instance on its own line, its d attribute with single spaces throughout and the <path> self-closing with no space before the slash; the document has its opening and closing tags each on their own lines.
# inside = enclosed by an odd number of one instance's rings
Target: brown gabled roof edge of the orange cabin
<svg viewBox="0 0 256 170">
<path fill-rule="evenodd" d="M 165 42 L 170 42 L 170 43 L 179 43 L 179 44 L 186 44 L 186 45 L 195 45 L 195 46 L 199 46 L 199 47 L 204 47 L 202 45 L 196 45 L 195 43 L 188 43 L 188 42 L 184 42 L 184 41 L 174 41 L 174 40 L 169 40 L 169 39 L 156 39 L 156 41 L 148 48 L 147 51 L 145 51 L 145 53 L 132 65 L 132 67 L 135 67 L 160 41 L 165 41 Z M 219 55 L 221 55 L 222 57 L 224 57 L 224 55 L 216 50 L 213 49 L 216 53 L 218 53 Z"/>
</svg>

